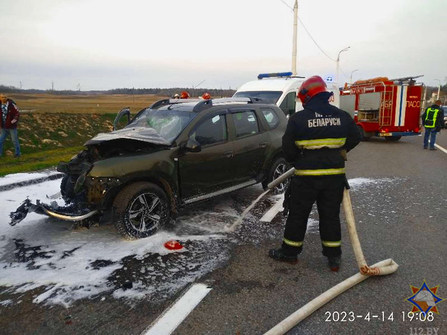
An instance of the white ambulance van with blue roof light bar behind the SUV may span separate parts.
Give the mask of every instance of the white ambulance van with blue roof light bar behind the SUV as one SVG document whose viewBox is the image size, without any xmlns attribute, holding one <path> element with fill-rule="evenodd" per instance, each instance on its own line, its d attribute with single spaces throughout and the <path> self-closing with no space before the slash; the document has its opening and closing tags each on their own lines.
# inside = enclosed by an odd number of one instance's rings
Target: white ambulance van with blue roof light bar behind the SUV
<svg viewBox="0 0 447 335">
<path fill-rule="evenodd" d="M 298 89 L 305 77 L 292 76 L 292 72 L 261 73 L 257 80 L 243 84 L 233 97 L 258 97 L 271 104 L 276 104 L 287 117 L 303 109 L 301 101 L 296 98 Z M 340 91 L 330 78 L 325 80 L 328 91 L 333 92 L 331 105 L 340 107 Z"/>
</svg>

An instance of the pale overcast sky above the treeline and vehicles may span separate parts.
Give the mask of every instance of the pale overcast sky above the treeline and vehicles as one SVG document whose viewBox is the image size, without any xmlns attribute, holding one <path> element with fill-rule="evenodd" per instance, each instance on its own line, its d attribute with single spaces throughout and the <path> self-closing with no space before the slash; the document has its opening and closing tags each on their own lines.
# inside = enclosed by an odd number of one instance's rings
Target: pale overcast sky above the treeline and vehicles
<svg viewBox="0 0 447 335">
<path fill-rule="evenodd" d="M 291 70 L 295 0 L 0 0 L 0 84 L 236 88 Z M 287 5 L 289 6 L 287 6 Z M 447 76 L 446 0 L 299 0 L 339 82 Z M 336 77 L 298 22 L 298 75 Z"/>
</svg>

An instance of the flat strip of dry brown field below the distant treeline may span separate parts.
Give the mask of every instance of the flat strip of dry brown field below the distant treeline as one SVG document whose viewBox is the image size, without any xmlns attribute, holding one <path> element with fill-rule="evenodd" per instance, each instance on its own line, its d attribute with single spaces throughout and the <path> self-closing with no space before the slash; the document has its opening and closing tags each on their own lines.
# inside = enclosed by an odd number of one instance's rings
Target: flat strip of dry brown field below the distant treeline
<svg viewBox="0 0 447 335">
<path fill-rule="evenodd" d="M 130 107 L 135 115 L 141 109 L 165 96 L 142 95 L 53 95 L 20 94 L 8 95 L 23 113 L 67 113 L 67 114 L 116 114 L 124 107 Z"/>
</svg>

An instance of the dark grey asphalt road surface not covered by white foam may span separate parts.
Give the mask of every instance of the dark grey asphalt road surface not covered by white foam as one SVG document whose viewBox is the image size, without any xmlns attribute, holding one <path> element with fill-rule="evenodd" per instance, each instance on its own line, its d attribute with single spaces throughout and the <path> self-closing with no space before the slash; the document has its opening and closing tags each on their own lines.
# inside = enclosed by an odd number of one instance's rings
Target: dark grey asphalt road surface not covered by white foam
<svg viewBox="0 0 447 335">
<path fill-rule="evenodd" d="M 447 149 L 447 131 L 437 144 Z M 447 247 L 447 154 L 422 149 L 421 137 L 386 142 L 373 138 L 362 142 L 348 154 L 349 179 L 367 182 L 350 191 L 358 235 L 368 264 L 392 258 L 397 272 L 371 277 L 322 306 L 293 327 L 287 334 L 422 334 L 447 333 L 447 302 L 439 302 L 433 321 L 409 321 L 413 295 L 410 285 L 421 287 L 424 280 L 437 296 L 447 298 L 447 271 L 444 268 Z M 259 186 L 246 188 L 195 205 L 180 215 L 215 211 L 222 203 L 241 213 L 261 193 Z M 269 248 L 279 247 L 285 219 L 278 214 L 272 222 L 260 222 L 272 201 L 265 199 L 234 233 L 201 249 L 197 262 L 217 260 L 210 271 L 180 289 L 167 290 L 157 298 L 131 304 L 111 297 L 112 291 L 99 298 L 82 299 L 69 308 L 38 305 L 34 297 L 45 288 L 20 294 L 21 303 L 0 306 L 2 334 L 142 334 L 193 283 L 203 283 L 211 291 L 191 311 L 173 334 L 263 334 L 337 283 L 358 272 L 350 247 L 342 213 L 343 259 L 339 272 L 331 272 L 321 255 L 316 226 L 310 225 L 304 251 L 295 265 L 275 262 L 267 257 Z M 209 214 L 213 220 L 213 214 Z M 312 222 L 318 219 L 315 210 Z M 219 218 L 215 220 L 219 221 Z M 176 231 L 178 227 L 167 227 Z M 194 244 L 194 243 L 193 243 Z M 200 244 L 190 248 L 202 248 Z M 187 263 L 188 254 L 170 254 L 172 263 Z M 144 260 L 156 262 L 156 255 Z M 137 268 L 135 260 L 123 260 L 123 275 Z M 143 263 L 143 261 L 142 261 Z M 126 270 L 124 270 L 126 268 Z M 1 276 L 1 268 L 0 268 Z M 181 280 L 179 277 L 173 280 Z M 116 284 L 116 283 L 115 283 Z M 160 283 L 165 284 L 165 283 Z M 0 300 L 17 299 L 18 293 L 0 288 Z M 338 312 L 346 321 L 337 319 Z M 350 314 L 352 312 L 352 314 Z M 370 315 L 369 320 L 367 315 Z M 388 319 L 390 314 L 393 320 Z M 355 315 L 350 321 L 350 315 Z M 357 316 L 362 317 L 357 317 Z M 377 315 L 377 318 L 373 316 Z M 382 315 L 385 320 L 382 321 Z M 332 321 L 327 321 L 328 318 Z M 430 330 L 428 330 L 430 328 Z M 438 328 L 438 329 L 436 329 Z"/>
</svg>

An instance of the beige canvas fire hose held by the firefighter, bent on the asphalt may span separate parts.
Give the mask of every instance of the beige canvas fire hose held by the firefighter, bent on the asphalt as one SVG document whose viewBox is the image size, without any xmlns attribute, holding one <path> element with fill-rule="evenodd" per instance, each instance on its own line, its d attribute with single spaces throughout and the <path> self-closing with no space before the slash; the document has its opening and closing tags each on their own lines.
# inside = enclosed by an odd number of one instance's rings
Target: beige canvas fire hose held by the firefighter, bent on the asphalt
<svg viewBox="0 0 447 335">
<path fill-rule="evenodd" d="M 274 188 L 276 185 L 282 183 L 284 180 L 290 178 L 295 173 L 295 168 L 291 168 L 283 175 L 279 176 L 277 179 L 273 180 L 268 184 L 268 188 Z M 284 319 L 282 322 L 278 323 L 276 326 L 271 328 L 265 333 L 265 335 L 278 335 L 284 334 L 289 331 L 292 327 L 298 324 L 301 320 L 308 317 L 310 314 L 315 312 L 321 306 L 325 305 L 327 302 L 337 297 L 339 294 L 350 289 L 352 286 L 358 284 L 359 282 L 367 279 L 369 276 L 379 276 L 388 275 L 390 273 L 396 272 L 398 264 L 394 262 L 391 258 L 388 260 L 382 260 L 371 267 L 367 265 L 365 257 L 363 255 L 362 247 L 360 246 L 360 241 L 358 240 L 357 229 L 355 226 L 354 213 L 352 211 L 351 199 L 349 196 L 349 184 L 346 180 L 346 188 L 343 191 L 343 209 L 346 216 L 346 224 L 348 228 L 349 239 L 354 251 L 355 260 L 357 261 L 357 266 L 359 272 L 354 276 L 349 277 L 345 281 L 335 285 L 333 288 L 327 290 L 326 292 L 320 294 L 318 297 L 308 302 L 306 305 L 301 307 L 295 313 L 291 314 L 289 317 Z"/>
</svg>

